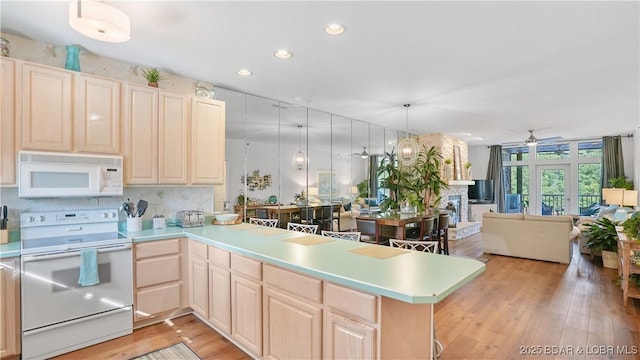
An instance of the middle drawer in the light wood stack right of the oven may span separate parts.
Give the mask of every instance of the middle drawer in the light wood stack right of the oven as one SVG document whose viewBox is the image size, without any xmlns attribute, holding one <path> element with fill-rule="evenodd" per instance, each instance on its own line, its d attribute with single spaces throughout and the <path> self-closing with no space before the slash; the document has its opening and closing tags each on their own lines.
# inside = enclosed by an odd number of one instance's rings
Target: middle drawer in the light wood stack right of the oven
<svg viewBox="0 0 640 360">
<path fill-rule="evenodd" d="M 180 255 L 140 260 L 136 263 L 136 287 L 180 280 Z"/>
</svg>

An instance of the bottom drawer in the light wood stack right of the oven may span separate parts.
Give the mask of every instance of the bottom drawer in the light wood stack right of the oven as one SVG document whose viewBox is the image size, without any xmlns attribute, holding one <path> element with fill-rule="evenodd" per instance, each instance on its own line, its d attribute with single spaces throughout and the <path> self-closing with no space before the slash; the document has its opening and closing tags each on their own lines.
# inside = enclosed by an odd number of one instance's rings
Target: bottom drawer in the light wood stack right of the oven
<svg viewBox="0 0 640 360">
<path fill-rule="evenodd" d="M 161 312 L 177 310 L 180 303 L 180 283 L 166 284 L 136 293 L 136 318 L 147 318 Z"/>
</svg>

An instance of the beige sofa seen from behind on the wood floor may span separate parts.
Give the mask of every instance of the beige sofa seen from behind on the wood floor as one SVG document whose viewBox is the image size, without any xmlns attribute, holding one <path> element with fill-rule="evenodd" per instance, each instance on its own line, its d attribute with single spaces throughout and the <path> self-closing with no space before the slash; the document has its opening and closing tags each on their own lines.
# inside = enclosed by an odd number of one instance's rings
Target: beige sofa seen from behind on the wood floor
<svg viewBox="0 0 640 360">
<path fill-rule="evenodd" d="M 570 216 L 484 213 L 482 247 L 488 254 L 568 264 L 580 235 Z"/>
</svg>

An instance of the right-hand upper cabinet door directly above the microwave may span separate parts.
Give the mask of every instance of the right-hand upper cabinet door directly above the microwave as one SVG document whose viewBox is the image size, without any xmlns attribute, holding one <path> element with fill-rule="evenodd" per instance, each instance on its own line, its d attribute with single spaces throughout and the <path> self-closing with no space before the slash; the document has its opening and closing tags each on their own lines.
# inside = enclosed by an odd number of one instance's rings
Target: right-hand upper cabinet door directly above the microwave
<svg viewBox="0 0 640 360">
<path fill-rule="evenodd" d="M 75 150 L 119 154 L 120 82 L 77 74 L 75 87 Z"/>
</svg>

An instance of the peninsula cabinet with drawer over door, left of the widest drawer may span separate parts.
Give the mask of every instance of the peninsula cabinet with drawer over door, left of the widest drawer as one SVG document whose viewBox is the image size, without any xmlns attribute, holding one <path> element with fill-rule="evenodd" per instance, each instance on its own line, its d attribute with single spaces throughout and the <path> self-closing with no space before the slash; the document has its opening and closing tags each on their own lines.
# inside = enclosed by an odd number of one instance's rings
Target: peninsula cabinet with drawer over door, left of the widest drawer
<svg viewBox="0 0 640 360">
<path fill-rule="evenodd" d="M 231 254 L 231 337 L 262 356 L 262 284 L 258 261 Z"/>
</svg>

